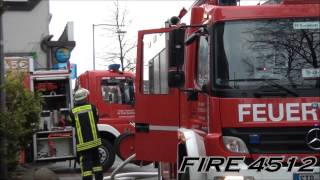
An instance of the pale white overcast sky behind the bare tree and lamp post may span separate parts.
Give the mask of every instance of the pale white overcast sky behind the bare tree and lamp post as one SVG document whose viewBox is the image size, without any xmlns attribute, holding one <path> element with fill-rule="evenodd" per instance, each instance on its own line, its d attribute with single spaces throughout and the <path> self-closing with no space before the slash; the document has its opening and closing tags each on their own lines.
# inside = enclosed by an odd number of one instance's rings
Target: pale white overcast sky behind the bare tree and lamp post
<svg viewBox="0 0 320 180">
<path fill-rule="evenodd" d="M 256 0 L 245 0 L 251 4 Z M 131 21 L 125 29 L 126 36 L 136 41 L 137 31 L 141 29 L 159 28 L 165 20 L 177 16 L 185 7 L 189 9 L 193 0 L 122 0 L 120 11 L 128 11 L 127 20 Z M 110 23 L 114 5 L 112 0 L 51 0 L 50 34 L 59 38 L 65 24 L 74 22 L 74 38 L 76 47 L 72 52 L 71 62 L 78 65 L 78 75 L 93 68 L 93 24 Z M 95 27 L 96 69 L 103 69 L 105 64 L 100 58 L 101 51 L 110 51 L 110 42 L 106 38 L 108 31 Z M 110 33 L 109 33 L 110 34 Z M 135 52 L 133 52 L 135 54 Z"/>
</svg>

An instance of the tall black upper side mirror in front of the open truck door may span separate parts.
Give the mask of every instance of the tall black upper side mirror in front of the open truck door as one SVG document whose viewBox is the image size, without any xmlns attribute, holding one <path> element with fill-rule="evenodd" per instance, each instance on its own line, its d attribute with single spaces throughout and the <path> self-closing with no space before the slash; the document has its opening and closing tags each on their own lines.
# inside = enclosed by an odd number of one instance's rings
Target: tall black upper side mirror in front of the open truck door
<svg viewBox="0 0 320 180">
<path fill-rule="evenodd" d="M 168 59 L 169 67 L 181 67 L 184 63 L 185 29 L 174 29 L 169 32 Z"/>
</svg>

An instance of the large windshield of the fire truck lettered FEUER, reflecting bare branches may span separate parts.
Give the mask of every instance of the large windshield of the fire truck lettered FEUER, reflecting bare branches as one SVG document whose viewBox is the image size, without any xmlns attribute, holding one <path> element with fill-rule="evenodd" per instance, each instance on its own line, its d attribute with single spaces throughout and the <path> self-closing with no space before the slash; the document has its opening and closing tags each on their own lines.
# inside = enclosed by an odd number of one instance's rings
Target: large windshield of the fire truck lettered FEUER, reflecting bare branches
<svg viewBox="0 0 320 180">
<path fill-rule="evenodd" d="M 320 86 L 319 19 L 224 22 L 215 26 L 214 42 L 215 88 Z"/>
</svg>

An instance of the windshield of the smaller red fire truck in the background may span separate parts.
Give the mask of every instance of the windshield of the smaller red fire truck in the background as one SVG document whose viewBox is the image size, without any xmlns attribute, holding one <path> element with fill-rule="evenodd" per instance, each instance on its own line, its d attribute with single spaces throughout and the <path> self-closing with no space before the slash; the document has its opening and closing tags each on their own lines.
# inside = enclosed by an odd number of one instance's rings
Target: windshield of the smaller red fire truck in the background
<svg viewBox="0 0 320 180">
<path fill-rule="evenodd" d="M 101 92 L 104 102 L 108 104 L 132 104 L 134 101 L 132 79 L 102 79 Z"/>
</svg>

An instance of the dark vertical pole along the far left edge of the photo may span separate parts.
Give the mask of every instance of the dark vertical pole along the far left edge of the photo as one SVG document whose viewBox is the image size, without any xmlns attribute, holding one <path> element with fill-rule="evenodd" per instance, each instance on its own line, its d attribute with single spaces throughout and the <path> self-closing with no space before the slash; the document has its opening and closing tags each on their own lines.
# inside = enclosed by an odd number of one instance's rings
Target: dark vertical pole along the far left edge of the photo
<svg viewBox="0 0 320 180">
<path fill-rule="evenodd" d="M 5 6 L 3 0 L 0 0 L 0 85 L 4 85 L 4 43 L 3 43 L 3 25 L 2 25 L 2 15 L 5 11 Z M 4 88 L 0 90 L 0 112 L 4 113 L 6 111 L 6 96 Z M 0 132 L 0 180 L 8 179 L 8 163 L 7 163 L 7 132 L 6 124 L 4 121 L 0 122 L 1 132 Z"/>
</svg>

